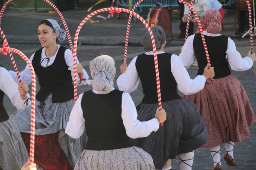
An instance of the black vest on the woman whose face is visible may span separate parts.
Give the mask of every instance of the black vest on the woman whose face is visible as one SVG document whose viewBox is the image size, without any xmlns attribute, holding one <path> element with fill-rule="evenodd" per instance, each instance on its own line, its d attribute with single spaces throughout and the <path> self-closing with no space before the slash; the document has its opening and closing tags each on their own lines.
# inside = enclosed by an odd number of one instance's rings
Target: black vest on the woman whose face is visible
<svg viewBox="0 0 256 170">
<path fill-rule="evenodd" d="M 50 93 L 52 93 L 53 103 L 67 102 L 74 99 L 73 79 L 64 58 L 67 48 L 60 46 L 54 62 L 46 68 L 40 64 L 42 49 L 35 52 L 32 60 L 40 85 L 36 99 L 44 102 Z"/>
</svg>

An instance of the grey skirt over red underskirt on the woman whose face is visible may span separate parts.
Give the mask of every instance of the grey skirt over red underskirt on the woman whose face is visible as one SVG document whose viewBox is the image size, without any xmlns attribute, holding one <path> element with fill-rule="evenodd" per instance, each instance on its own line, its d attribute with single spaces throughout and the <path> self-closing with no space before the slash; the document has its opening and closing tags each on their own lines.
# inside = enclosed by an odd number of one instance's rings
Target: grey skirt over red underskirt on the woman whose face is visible
<svg viewBox="0 0 256 170">
<path fill-rule="evenodd" d="M 44 102 L 36 101 L 35 135 L 47 135 L 59 132 L 58 142 L 72 167 L 75 167 L 87 142 L 86 133 L 73 139 L 65 133 L 69 116 L 74 106 L 74 99 L 67 102 L 52 103 L 52 94 Z M 30 133 L 31 108 L 18 111 L 13 119 L 20 132 Z M 35 158 L 36 159 L 36 158 Z"/>
</svg>

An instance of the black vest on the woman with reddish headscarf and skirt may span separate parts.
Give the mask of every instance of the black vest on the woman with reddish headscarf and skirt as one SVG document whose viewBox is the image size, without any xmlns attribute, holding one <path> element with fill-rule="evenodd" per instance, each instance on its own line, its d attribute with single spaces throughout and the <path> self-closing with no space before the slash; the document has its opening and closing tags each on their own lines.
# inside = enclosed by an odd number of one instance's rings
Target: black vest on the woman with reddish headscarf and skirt
<svg viewBox="0 0 256 170">
<path fill-rule="evenodd" d="M 217 37 L 210 37 L 204 35 L 204 38 L 206 41 L 211 65 L 212 67 L 214 67 L 214 79 L 229 76 L 231 74 L 231 71 L 226 59 L 228 37 L 224 35 Z M 200 33 L 195 34 L 193 47 L 199 67 L 197 75 L 203 75 L 204 68 L 207 65 L 207 58 Z"/>
</svg>

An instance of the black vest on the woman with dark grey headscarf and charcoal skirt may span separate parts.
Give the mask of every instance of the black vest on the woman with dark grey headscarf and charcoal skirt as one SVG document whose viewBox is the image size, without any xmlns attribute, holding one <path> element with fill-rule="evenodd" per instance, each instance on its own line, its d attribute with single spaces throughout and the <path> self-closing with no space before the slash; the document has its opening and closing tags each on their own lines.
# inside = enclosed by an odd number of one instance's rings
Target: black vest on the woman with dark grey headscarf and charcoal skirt
<svg viewBox="0 0 256 170">
<path fill-rule="evenodd" d="M 171 71 L 171 57 L 169 53 L 157 54 L 162 102 L 181 99 Z M 143 88 L 142 103 L 158 103 L 154 55 L 140 54 L 135 65 Z"/>
</svg>

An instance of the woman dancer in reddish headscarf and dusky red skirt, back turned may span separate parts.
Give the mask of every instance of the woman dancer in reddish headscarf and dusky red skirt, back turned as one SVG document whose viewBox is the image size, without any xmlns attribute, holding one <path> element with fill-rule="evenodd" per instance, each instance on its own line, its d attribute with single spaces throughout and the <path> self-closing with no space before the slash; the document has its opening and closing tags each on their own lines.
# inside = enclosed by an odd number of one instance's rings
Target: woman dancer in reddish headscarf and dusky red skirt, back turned
<svg viewBox="0 0 256 170">
<path fill-rule="evenodd" d="M 214 170 L 221 170 L 220 145 L 225 143 L 224 156 L 227 165 L 236 166 L 233 157 L 234 142 L 250 139 L 248 126 L 255 123 L 255 116 L 244 88 L 230 72 L 246 71 L 256 60 L 255 53 L 242 58 L 236 45 L 221 32 L 221 14 L 211 8 L 204 14 L 204 37 L 206 40 L 211 65 L 215 70 L 215 84 L 206 87 L 197 94 L 182 97 L 195 102 L 209 133 L 209 140 L 202 148 L 209 147 L 214 162 Z M 216 50 L 218 49 L 218 50 Z M 226 59 L 227 55 L 227 59 Z M 201 34 L 195 34 L 185 42 L 180 59 L 189 68 L 194 59 L 198 60 L 198 75 L 203 74 L 207 58 Z M 210 83 L 210 82 L 209 82 Z"/>
</svg>

